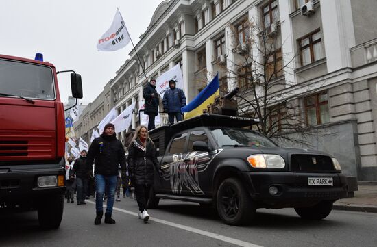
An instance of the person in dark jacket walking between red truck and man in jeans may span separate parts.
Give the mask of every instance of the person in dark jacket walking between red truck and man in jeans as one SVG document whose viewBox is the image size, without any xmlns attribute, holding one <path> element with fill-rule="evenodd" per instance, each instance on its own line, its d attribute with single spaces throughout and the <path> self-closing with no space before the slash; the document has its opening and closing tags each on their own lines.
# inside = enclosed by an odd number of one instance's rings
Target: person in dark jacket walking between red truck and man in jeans
<svg viewBox="0 0 377 247">
<path fill-rule="evenodd" d="M 73 176 L 76 175 L 77 205 L 86 204 L 85 198 L 88 192 L 88 179 L 92 167 L 88 166 L 85 161 L 86 150 L 82 150 L 80 157 L 75 160 L 75 164 L 73 165 Z"/>
</svg>

